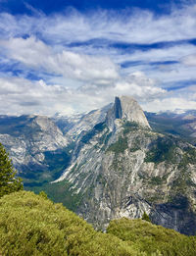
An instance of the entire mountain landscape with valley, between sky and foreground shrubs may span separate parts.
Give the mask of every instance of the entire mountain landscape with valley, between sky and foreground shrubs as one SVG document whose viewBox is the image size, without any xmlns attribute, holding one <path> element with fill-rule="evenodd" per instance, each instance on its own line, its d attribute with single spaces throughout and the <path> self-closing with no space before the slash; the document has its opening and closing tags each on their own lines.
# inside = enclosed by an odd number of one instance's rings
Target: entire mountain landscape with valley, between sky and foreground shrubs
<svg viewBox="0 0 196 256">
<path fill-rule="evenodd" d="M 88 114 L 0 116 L 25 188 L 45 190 L 98 229 L 141 218 L 196 232 L 196 111 L 144 113 L 130 97 Z"/>
</svg>

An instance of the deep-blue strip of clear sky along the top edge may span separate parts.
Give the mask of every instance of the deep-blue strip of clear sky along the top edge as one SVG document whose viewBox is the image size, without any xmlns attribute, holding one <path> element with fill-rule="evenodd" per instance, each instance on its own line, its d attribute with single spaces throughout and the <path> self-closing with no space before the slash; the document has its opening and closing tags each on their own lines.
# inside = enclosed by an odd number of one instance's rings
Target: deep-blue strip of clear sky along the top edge
<svg viewBox="0 0 196 256">
<path fill-rule="evenodd" d="M 68 7 L 73 7 L 79 12 L 96 11 L 97 9 L 104 10 L 124 10 L 128 8 L 139 8 L 150 10 L 155 14 L 168 14 L 171 12 L 173 6 L 181 8 L 184 4 L 191 3 L 190 1 L 180 0 L 2 0 L 1 8 L 4 12 L 16 14 L 31 14 L 31 10 L 39 10 L 46 15 L 60 13 Z M 194 3 L 194 1 L 192 1 Z M 31 10 L 30 10 L 31 9 Z"/>
</svg>

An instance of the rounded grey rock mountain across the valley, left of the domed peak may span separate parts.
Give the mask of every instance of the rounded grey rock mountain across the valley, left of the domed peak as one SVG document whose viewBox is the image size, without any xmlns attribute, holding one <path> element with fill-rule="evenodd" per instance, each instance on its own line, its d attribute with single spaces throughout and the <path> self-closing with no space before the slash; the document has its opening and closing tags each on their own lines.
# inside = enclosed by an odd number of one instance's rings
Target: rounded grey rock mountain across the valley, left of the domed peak
<svg viewBox="0 0 196 256">
<path fill-rule="evenodd" d="M 49 179 L 46 153 L 60 151 L 68 145 L 63 132 L 44 116 L 1 116 L 0 142 L 9 151 L 20 176 L 30 183 L 38 182 L 40 177 Z"/>
</svg>

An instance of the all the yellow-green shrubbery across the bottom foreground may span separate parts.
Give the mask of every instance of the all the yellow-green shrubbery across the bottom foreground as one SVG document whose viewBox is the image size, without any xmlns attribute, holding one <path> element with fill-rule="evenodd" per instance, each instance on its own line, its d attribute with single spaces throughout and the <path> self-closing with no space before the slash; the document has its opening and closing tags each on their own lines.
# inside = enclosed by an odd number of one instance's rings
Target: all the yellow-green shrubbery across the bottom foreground
<svg viewBox="0 0 196 256">
<path fill-rule="evenodd" d="M 107 233 L 54 204 L 44 193 L 19 191 L 0 199 L 2 255 L 195 255 L 196 238 L 143 220 L 112 221 Z"/>
</svg>

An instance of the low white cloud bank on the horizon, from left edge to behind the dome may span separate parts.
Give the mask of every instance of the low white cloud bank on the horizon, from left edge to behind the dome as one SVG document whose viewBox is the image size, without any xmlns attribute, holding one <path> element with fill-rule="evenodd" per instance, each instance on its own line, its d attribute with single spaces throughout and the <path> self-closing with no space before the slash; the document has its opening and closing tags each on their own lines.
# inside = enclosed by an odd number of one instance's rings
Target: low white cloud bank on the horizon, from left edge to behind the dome
<svg viewBox="0 0 196 256">
<path fill-rule="evenodd" d="M 144 82 L 140 84 L 139 82 Z M 116 95 L 132 95 L 138 100 L 152 100 L 165 91 L 144 74 L 133 74 L 114 84 L 86 84 L 77 89 L 46 84 L 43 80 L 0 78 L 2 114 L 71 115 L 86 112 L 113 102 Z"/>
</svg>

